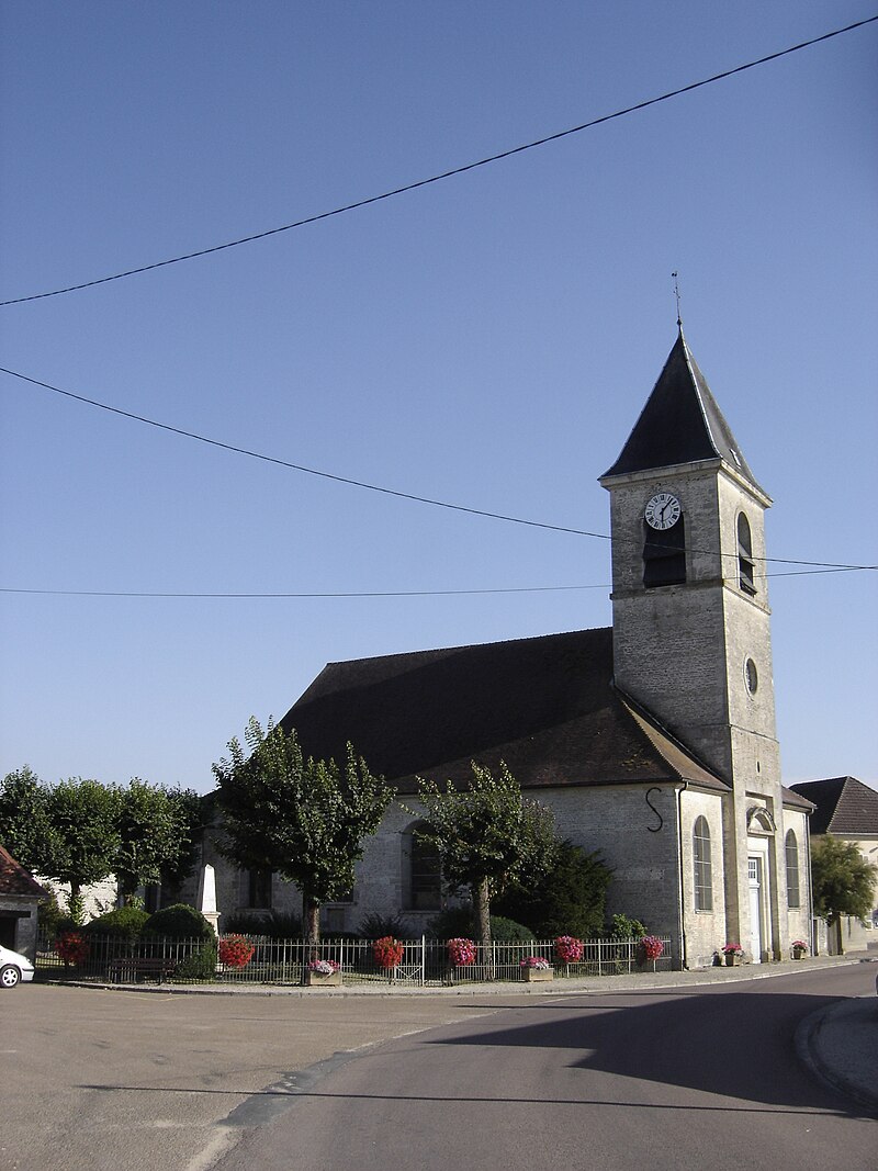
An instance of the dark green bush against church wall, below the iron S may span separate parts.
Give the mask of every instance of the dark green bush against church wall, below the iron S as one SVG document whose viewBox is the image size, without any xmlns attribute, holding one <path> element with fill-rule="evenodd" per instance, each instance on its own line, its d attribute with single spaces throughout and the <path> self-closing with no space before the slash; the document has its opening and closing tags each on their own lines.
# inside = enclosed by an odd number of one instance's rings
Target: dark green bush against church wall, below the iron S
<svg viewBox="0 0 878 1171">
<path fill-rule="evenodd" d="M 587 854 L 571 842 L 558 843 L 551 867 L 530 884 L 510 883 L 494 910 L 526 923 L 539 939 L 601 933 L 606 888 L 612 871 L 598 854 Z"/>
</svg>

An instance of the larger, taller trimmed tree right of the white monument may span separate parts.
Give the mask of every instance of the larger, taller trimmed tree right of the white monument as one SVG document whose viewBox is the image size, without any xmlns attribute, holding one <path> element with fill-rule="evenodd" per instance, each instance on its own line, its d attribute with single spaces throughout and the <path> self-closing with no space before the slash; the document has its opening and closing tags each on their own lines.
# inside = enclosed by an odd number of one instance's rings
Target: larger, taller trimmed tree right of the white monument
<svg viewBox="0 0 878 1171">
<path fill-rule="evenodd" d="M 263 867 L 295 883 L 302 893 L 304 937 L 320 939 L 322 903 L 343 898 L 354 885 L 363 842 L 382 822 L 393 790 L 372 776 L 348 745 L 341 768 L 306 758 L 295 730 L 254 718 L 245 740 L 228 744 L 229 759 L 213 766 L 219 786 L 224 854 L 240 867 Z"/>
</svg>

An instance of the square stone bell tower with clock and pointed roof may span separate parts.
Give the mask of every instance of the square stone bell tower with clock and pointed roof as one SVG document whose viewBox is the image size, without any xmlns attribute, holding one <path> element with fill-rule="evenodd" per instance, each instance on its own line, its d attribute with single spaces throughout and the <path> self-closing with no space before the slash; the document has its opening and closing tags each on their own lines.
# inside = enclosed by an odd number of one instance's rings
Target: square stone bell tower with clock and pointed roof
<svg viewBox="0 0 878 1171">
<path fill-rule="evenodd" d="M 780 954 L 786 875 L 764 574 L 771 501 L 681 329 L 601 484 L 611 500 L 616 685 L 730 787 L 727 931 L 754 958 Z"/>
</svg>

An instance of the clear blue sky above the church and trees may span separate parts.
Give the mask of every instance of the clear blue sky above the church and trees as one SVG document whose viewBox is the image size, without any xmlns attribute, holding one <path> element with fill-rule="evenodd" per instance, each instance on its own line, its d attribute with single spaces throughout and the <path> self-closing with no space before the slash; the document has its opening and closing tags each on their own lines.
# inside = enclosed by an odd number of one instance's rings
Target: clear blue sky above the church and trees
<svg viewBox="0 0 878 1171">
<path fill-rule="evenodd" d="M 6 0 L 0 300 L 366 199 L 874 2 Z M 419 191 L 0 309 L 0 365 L 221 443 L 606 533 L 675 337 L 775 500 L 878 561 L 878 23 Z M 324 663 L 608 625 L 609 546 L 0 375 L 0 771 L 206 790 Z M 775 566 L 774 570 L 791 567 Z M 874 573 L 770 583 L 788 783 L 878 783 Z"/>
</svg>

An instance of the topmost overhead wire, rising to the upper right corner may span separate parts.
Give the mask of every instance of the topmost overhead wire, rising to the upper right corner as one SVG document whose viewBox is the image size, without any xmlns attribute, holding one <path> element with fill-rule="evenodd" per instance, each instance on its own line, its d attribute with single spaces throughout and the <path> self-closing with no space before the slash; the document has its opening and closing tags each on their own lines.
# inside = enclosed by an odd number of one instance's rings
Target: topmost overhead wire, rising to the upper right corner
<svg viewBox="0 0 878 1171">
<path fill-rule="evenodd" d="M 536 146 L 546 146 L 561 138 L 568 138 L 570 135 L 582 133 L 584 130 L 591 130 L 594 126 L 599 126 L 604 122 L 612 122 L 615 118 L 624 118 L 629 114 L 637 114 L 638 111 L 645 110 L 651 105 L 658 105 L 660 102 L 667 102 L 672 97 L 680 97 L 682 94 L 690 94 L 705 85 L 712 85 L 714 82 L 723 81 L 727 77 L 734 77 L 735 74 L 746 73 L 748 69 L 755 69 L 757 66 L 764 66 L 771 61 L 777 61 L 781 57 L 789 56 L 791 53 L 798 53 L 801 49 L 808 49 L 823 41 L 830 41 L 835 36 L 841 36 L 843 33 L 851 33 L 857 28 L 863 28 L 865 25 L 873 23 L 874 21 L 878 21 L 878 15 L 867 16 L 865 20 L 855 21 L 852 25 L 845 25 L 844 28 L 835 28 L 832 32 L 824 33 L 822 36 L 814 36 L 808 41 L 801 41 L 798 44 L 790 44 L 786 49 L 778 49 L 776 53 L 769 53 L 764 57 L 759 57 L 756 61 L 748 61 L 746 64 L 735 66 L 733 69 L 723 69 L 722 73 L 713 74 L 711 77 L 702 77 L 701 81 L 693 81 L 688 85 L 680 85 L 677 89 L 668 90 L 666 94 L 660 94 L 658 97 L 650 97 L 643 102 L 636 102 L 633 105 L 626 105 L 622 110 L 613 110 L 612 114 L 603 114 L 597 118 L 591 118 L 589 122 L 582 122 L 579 125 L 570 126 L 567 130 L 558 130 L 555 133 L 546 135 L 543 138 L 536 138 L 533 142 L 523 143 L 519 146 L 510 146 L 508 150 L 499 151 L 496 155 L 489 155 L 474 163 L 465 163 L 461 166 L 455 166 L 451 170 L 441 171 L 438 174 L 432 174 L 426 179 L 418 179 L 413 183 L 407 183 L 402 187 L 393 187 L 391 191 L 384 191 L 378 196 L 369 196 L 366 199 L 358 199 L 354 203 L 343 204 L 339 207 L 334 207 L 331 211 L 320 212 L 316 215 L 308 215 L 303 219 L 294 220 L 291 224 L 282 224 L 280 227 L 266 228 L 262 232 L 254 232 L 252 235 L 243 235 L 236 240 L 227 240 L 225 244 L 214 244 L 211 247 L 199 248 L 196 252 L 187 252 L 180 256 L 171 256 L 167 260 L 156 260 L 152 263 L 140 265 L 137 268 L 128 268 L 124 272 L 112 273 L 109 276 L 98 276 L 90 281 L 82 281 L 78 285 L 68 285 L 64 288 L 50 289 L 46 293 L 32 293 L 28 296 L 11 297 L 7 301 L 0 301 L 0 308 L 11 304 L 22 304 L 26 301 L 41 301 L 44 297 L 50 296 L 62 296 L 64 293 L 78 293 L 82 289 L 94 288 L 96 285 L 107 285 L 110 281 L 119 281 L 126 276 L 138 276 L 142 273 L 149 273 L 156 268 L 167 268 L 170 265 L 180 265 L 186 260 L 197 260 L 200 256 L 208 256 L 215 252 L 225 252 L 228 248 L 238 248 L 245 244 L 254 244 L 256 240 L 265 240 L 272 235 L 280 235 L 282 232 L 291 232 L 294 228 L 306 227 L 309 224 L 317 224 L 320 220 L 331 219 L 334 215 L 343 215 L 345 212 L 357 211 L 359 207 L 368 207 L 370 204 L 378 204 L 385 199 L 393 199 L 396 196 L 403 196 L 410 191 L 418 191 L 420 187 L 428 187 L 434 183 L 441 183 L 444 179 L 451 179 L 458 174 L 466 174 L 468 171 L 475 171 L 479 167 L 488 166 L 491 163 L 499 163 L 502 159 L 512 158 L 514 155 L 522 155 L 524 151 L 534 150 Z"/>
</svg>

